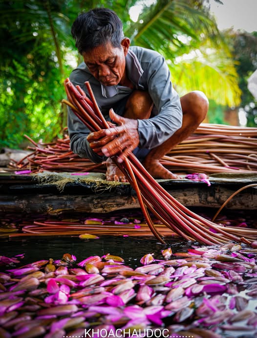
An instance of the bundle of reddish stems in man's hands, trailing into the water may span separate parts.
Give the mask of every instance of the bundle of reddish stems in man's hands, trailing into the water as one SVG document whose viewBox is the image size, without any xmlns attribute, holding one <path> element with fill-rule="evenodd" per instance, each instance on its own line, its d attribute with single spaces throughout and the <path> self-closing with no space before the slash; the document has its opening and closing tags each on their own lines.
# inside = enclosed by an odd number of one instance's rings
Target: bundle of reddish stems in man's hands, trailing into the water
<svg viewBox="0 0 257 338">
<path fill-rule="evenodd" d="M 64 86 L 68 100 L 64 99 L 63 102 L 72 109 L 73 113 L 91 132 L 109 128 L 97 105 L 89 82 L 85 82 L 85 85 L 90 98 L 86 96 L 80 86 L 74 86 L 67 78 Z M 229 241 L 251 244 L 256 238 L 257 231 L 254 229 L 237 229 L 235 231 L 231 227 L 216 225 L 187 209 L 152 178 L 132 153 L 122 163 L 119 163 L 115 156 L 112 160 L 136 191 L 146 222 L 161 243 L 165 244 L 165 241 L 155 228 L 149 211 L 172 232 L 188 241 L 196 240 L 207 245 L 223 244 Z"/>
</svg>

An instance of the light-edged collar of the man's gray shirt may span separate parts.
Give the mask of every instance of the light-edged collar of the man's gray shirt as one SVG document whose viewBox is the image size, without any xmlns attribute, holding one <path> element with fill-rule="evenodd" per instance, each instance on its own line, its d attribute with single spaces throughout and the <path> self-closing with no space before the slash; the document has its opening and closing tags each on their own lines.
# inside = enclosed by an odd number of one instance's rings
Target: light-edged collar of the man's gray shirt
<svg viewBox="0 0 257 338">
<path fill-rule="evenodd" d="M 142 69 L 138 58 L 135 53 L 129 49 L 128 54 L 126 55 L 126 69 L 129 74 L 129 79 L 133 84 L 139 85 L 139 79 L 142 76 L 144 70 Z M 102 94 L 104 97 L 112 97 L 118 93 L 119 85 L 116 86 L 104 86 L 101 84 Z"/>
</svg>

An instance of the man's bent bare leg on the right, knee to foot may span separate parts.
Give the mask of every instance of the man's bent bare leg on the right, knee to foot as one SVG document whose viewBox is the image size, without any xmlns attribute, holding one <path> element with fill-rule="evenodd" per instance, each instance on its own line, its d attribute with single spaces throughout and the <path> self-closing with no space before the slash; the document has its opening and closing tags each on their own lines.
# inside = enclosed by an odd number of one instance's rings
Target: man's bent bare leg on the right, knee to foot
<svg viewBox="0 0 257 338">
<path fill-rule="evenodd" d="M 201 91 L 192 91 L 182 96 L 180 102 L 183 112 L 182 127 L 163 144 L 152 149 L 143 161 L 144 167 L 154 178 L 181 179 L 178 175 L 172 174 L 159 161 L 177 144 L 193 134 L 208 112 L 209 102 Z"/>
</svg>

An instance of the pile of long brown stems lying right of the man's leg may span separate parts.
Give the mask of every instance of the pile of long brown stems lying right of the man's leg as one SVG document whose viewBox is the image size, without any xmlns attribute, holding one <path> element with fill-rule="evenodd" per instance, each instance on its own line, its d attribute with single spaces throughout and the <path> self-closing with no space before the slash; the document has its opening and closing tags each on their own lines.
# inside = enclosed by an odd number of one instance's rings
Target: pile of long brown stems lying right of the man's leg
<svg viewBox="0 0 257 338">
<path fill-rule="evenodd" d="M 174 172 L 257 173 L 257 128 L 202 123 L 167 155 Z"/>
</svg>

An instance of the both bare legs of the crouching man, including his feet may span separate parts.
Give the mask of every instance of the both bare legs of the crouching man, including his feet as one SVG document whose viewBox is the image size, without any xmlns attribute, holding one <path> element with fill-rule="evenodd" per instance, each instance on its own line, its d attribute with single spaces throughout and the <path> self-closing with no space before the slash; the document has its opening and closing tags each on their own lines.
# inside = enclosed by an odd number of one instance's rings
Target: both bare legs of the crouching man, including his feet
<svg viewBox="0 0 257 338">
<path fill-rule="evenodd" d="M 154 178 L 180 179 L 178 175 L 172 174 L 170 170 L 166 169 L 159 160 L 177 144 L 193 134 L 208 112 L 208 99 L 201 91 L 195 90 L 182 96 L 180 102 L 183 111 L 182 127 L 163 144 L 152 149 L 143 161 L 143 165 Z M 152 106 L 153 103 L 149 93 L 136 90 L 129 97 L 124 117 L 133 119 L 149 118 Z M 106 164 L 107 180 L 126 182 L 125 176 L 111 158 L 107 158 Z"/>
</svg>

